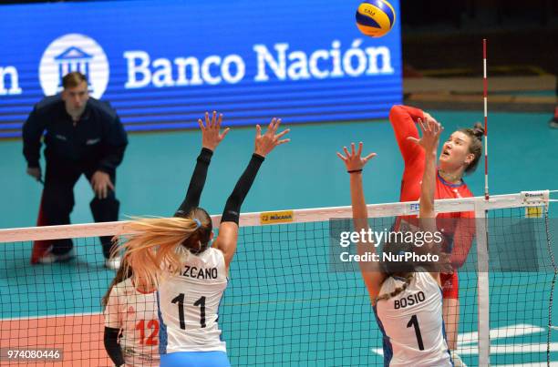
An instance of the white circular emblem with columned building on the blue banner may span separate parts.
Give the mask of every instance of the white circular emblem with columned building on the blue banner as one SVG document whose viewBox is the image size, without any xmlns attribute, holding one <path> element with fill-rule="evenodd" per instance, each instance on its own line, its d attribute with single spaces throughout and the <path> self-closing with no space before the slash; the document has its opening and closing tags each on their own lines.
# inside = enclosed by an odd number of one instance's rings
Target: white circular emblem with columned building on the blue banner
<svg viewBox="0 0 558 367">
<path fill-rule="evenodd" d="M 46 96 L 62 90 L 62 77 L 79 71 L 88 77 L 91 97 L 100 98 L 109 84 L 109 60 L 98 43 L 88 36 L 70 34 L 48 45 L 39 65 L 39 81 Z"/>
</svg>

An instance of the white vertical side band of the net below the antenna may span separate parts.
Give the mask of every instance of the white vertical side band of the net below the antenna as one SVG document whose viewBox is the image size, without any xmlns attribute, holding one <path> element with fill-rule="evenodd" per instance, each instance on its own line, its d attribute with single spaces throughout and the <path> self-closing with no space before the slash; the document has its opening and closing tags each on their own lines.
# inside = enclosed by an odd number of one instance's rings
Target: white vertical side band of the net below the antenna
<svg viewBox="0 0 558 367">
<path fill-rule="evenodd" d="M 475 230 L 477 237 L 477 294 L 478 294 L 478 343 L 479 365 L 491 364 L 491 326 L 490 326 L 490 299 L 489 299 L 489 254 L 488 231 L 486 219 L 487 201 L 484 198 L 475 199 Z"/>
</svg>

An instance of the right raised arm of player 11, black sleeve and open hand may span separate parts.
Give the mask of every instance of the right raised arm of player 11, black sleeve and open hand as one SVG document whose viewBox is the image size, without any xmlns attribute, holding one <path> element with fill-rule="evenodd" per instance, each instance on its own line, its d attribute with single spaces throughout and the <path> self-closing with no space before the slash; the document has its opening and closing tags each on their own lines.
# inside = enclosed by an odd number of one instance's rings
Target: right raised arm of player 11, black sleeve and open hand
<svg viewBox="0 0 558 367">
<path fill-rule="evenodd" d="M 288 138 L 282 139 L 284 135 L 289 132 L 288 128 L 276 134 L 280 124 L 281 119 L 272 119 L 267 131 L 263 135 L 262 127 L 256 125 L 255 148 L 252 158 L 248 163 L 248 167 L 244 169 L 243 175 L 238 179 L 236 186 L 234 186 L 233 192 L 231 196 L 229 196 L 229 199 L 227 199 L 225 208 L 222 212 L 219 237 L 215 240 L 214 247 L 222 250 L 227 271 L 229 270 L 234 253 L 236 252 L 241 207 L 246 195 L 248 195 L 248 191 L 252 188 L 253 180 L 263 163 L 263 159 L 274 150 L 275 147 L 290 141 Z"/>
</svg>

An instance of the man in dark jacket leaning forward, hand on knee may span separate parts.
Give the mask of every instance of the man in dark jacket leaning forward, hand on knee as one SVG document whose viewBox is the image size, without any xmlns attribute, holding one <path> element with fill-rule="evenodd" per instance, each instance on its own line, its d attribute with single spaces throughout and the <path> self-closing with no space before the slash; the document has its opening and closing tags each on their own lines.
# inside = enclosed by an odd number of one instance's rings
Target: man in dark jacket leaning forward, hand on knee
<svg viewBox="0 0 558 367">
<path fill-rule="evenodd" d="M 88 80 L 78 72 L 64 76 L 59 96 L 36 104 L 23 127 L 27 174 L 42 181 L 39 164 L 41 138 L 45 135 L 45 188 L 39 217 L 42 225 L 69 224 L 74 207 L 74 185 L 85 174 L 95 191 L 90 207 L 96 222 L 119 219 L 114 188 L 116 168 L 124 157 L 128 138 L 116 111 L 88 95 Z M 101 237 L 106 266 L 119 268 L 119 258 L 109 260 L 110 237 Z M 38 262 L 67 260 L 74 256 L 72 240 L 55 240 Z"/>
</svg>

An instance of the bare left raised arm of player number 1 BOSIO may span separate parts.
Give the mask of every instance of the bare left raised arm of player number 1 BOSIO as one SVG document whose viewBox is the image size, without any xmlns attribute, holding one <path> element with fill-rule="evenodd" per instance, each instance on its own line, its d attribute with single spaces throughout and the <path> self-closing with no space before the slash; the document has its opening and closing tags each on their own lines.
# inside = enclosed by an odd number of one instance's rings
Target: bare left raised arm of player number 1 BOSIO
<svg viewBox="0 0 558 367">
<path fill-rule="evenodd" d="M 355 143 L 351 143 L 351 151 L 349 152 L 346 147 L 343 147 L 345 156 L 337 152 L 337 157 L 345 162 L 346 171 L 350 175 L 350 188 L 351 188 L 351 206 L 353 209 L 353 223 L 354 230 L 360 233 L 362 230 L 368 230 L 368 211 L 367 202 L 364 196 L 362 187 L 362 170 L 370 158 L 376 156 L 376 153 L 370 153 L 367 157 L 361 157 L 362 143 L 358 143 L 358 151 L 355 153 Z M 368 246 L 372 244 L 368 243 Z M 359 254 L 367 251 L 366 244 L 357 243 L 356 250 Z M 374 248 L 376 249 L 376 248 Z M 379 264 L 376 261 L 359 262 L 362 278 L 367 285 L 368 294 L 372 304 L 376 304 L 377 295 L 380 291 L 382 282 L 385 279 L 384 272 L 381 271 Z"/>
</svg>

